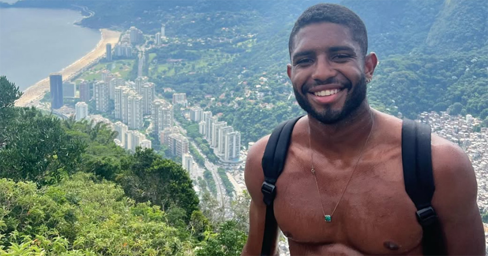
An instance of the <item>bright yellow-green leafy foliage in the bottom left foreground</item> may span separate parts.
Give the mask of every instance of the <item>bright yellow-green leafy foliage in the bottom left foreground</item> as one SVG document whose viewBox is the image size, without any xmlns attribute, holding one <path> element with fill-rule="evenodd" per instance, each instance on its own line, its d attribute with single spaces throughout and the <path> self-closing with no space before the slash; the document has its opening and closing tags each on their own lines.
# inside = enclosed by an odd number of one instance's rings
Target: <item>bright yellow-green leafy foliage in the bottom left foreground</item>
<svg viewBox="0 0 488 256">
<path fill-rule="evenodd" d="M 112 182 L 78 173 L 37 189 L 32 182 L 0 179 L 0 245 L 47 255 L 186 255 L 167 215 L 135 203 Z M 1 252 L 1 251 L 0 251 Z"/>
</svg>

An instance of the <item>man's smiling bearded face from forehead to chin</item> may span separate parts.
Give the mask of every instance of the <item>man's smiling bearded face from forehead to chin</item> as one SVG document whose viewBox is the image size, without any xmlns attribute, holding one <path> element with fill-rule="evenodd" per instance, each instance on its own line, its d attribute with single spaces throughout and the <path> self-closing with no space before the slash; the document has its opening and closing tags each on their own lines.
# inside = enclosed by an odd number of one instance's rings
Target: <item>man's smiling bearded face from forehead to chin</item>
<svg viewBox="0 0 488 256">
<path fill-rule="evenodd" d="M 300 106 L 332 124 L 348 117 L 366 98 L 364 56 L 350 30 L 322 22 L 295 35 L 288 77 Z"/>
</svg>

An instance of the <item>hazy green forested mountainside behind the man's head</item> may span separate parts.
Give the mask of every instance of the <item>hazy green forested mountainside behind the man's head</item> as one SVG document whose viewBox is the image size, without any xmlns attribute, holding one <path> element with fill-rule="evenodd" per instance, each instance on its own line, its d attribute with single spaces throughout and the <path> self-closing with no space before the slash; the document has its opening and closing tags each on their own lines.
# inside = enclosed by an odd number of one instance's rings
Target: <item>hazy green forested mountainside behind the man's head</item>
<svg viewBox="0 0 488 256">
<path fill-rule="evenodd" d="M 95 14 L 83 26 L 136 26 L 152 35 L 164 23 L 168 43 L 148 52 L 144 75 L 161 94 L 170 87 L 186 92 L 193 104 L 222 112 L 245 143 L 302 113 L 289 97 L 287 43 L 294 21 L 317 2 L 28 0 L 13 6 L 87 6 Z M 373 107 L 408 118 L 432 110 L 488 117 L 487 1 L 335 2 L 365 21 L 368 50 L 379 57 L 368 87 Z M 253 105 L 260 115 L 252 113 Z M 234 112 L 254 118 L 234 118 Z M 264 127 L 254 131 L 247 121 Z"/>
</svg>

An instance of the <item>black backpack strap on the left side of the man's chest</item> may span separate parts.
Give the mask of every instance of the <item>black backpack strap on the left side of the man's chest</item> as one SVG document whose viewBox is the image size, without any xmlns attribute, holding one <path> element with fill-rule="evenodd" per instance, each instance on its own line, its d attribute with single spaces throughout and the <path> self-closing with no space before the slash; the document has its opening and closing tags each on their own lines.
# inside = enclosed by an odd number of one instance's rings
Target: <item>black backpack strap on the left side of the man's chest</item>
<svg viewBox="0 0 488 256">
<path fill-rule="evenodd" d="M 268 139 L 261 165 L 264 171 L 264 182 L 261 187 L 263 201 L 266 204 L 266 219 L 264 222 L 263 247 L 261 255 L 271 255 L 273 236 L 277 229 L 274 217 L 273 201 L 276 196 L 276 180 L 285 166 L 286 154 L 290 145 L 291 133 L 295 123 L 302 117 L 287 120 L 278 125 Z"/>
</svg>

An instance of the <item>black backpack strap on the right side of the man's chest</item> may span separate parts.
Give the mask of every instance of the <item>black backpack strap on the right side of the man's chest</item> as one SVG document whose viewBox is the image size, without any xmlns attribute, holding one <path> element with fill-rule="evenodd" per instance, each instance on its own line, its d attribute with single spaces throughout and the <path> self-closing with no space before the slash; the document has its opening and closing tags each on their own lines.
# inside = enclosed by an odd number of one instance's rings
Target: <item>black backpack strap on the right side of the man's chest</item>
<svg viewBox="0 0 488 256">
<path fill-rule="evenodd" d="M 402 162 L 405 189 L 417 208 L 423 229 L 424 255 L 446 255 L 439 218 L 431 205 L 434 195 L 430 126 L 404 119 L 402 125 Z"/>
</svg>

